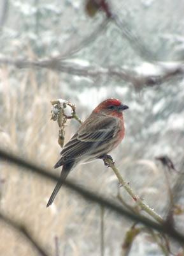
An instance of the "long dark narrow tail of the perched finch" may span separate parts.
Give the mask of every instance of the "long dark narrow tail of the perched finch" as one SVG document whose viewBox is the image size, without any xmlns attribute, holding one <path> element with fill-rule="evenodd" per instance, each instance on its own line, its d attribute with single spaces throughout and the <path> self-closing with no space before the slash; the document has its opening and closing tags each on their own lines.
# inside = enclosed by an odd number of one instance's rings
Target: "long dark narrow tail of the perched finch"
<svg viewBox="0 0 184 256">
<path fill-rule="evenodd" d="M 53 189 L 52 195 L 50 196 L 50 199 L 48 200 L 48 203 L 47 203 L 46 207 L 52 205 L 55 196 L 57 195 L 60 187 L 62 186 L 62 181 L 66 179 L 66 177 L 69 174 L 69 171 L 71 170 L 72 167 L 73 167 L 73 162 L 65 164 L 62 167 L 62 171 L 60 173 L 60 181 L 57 182 L 57 184 L 55 186 L 55 189 Z"/>
</svg>

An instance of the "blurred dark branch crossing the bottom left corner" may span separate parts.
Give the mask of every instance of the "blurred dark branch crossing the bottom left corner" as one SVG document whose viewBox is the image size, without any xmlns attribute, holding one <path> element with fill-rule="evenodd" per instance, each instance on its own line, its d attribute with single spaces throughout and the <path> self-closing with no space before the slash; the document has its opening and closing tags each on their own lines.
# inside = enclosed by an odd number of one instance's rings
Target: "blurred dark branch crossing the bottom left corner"
<svg viewBox="0 0 184 256">
<path fill-rule="evenodd" d="M 46 253 L 45 250 L 41 248 L 41 246 L 38 244 L 36 239 L 34 239 L 31 236 L 27 228 L 25 228 L 22 224 L 19 224 L 17 221 L 10 220 L 10 218 L 4 216 L 1 212 L 0 212 L 0 221 L 3 221 L 8 226 L 15 229 L 18 233 L 24 236 L 25 239 L 27 239 L 27 241 L 29 241 L 29 243 L 32 245 L 32 247 L 37 250 L 39 255 L 48 256 L 48 253 Z"/>
</svg>

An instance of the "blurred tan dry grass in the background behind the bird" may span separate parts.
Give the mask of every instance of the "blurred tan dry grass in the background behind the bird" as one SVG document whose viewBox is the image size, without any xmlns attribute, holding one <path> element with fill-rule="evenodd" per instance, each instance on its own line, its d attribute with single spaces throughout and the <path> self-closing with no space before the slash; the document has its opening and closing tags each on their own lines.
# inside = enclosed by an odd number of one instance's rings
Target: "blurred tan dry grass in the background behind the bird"
<svg viewBox="0 0 184 256">
<path fill-rule="evenodd" d="M 17 72 L 6 67 L 1 69 L 1 147 L 52 168 L 59 157 L 60 148 L 57 145 L 57 125 L 50 121 L 50 100 L 65 98 L 65 95 L 60 93 L 59 81 L 59 75 L 52 71 Z M 74 103 L 79 104 L 79 102 Z M 67 127 L 66 140 L 71 137 L 73 124 L 74 121 L 71 121 Z M 118 150 L 114 155 L 116 154 Z M 124 170 L 130 163 L 133 163 L 132 159 L 124 158 L 117 161 L 118 167 Z M 158 196 L 158 188 L 155 190 L 152 188 L 160 174 L 157 168 L 154 169 L 153 166 L 146 164 L 145 173 L 149 168 L 152 177 L 155 177 L 151 181 L 148 173 L 143 184 L 138 186 L 136 182 L 134 184 L 138 177 L 134 175 L 134 163 L 126 175 L 128 181 L 131 180 L 132 186 L 141 189 L 143 195 L 145 195 L 144 189 L 148 188 L 146 184 L 149 180 L 151 197 L 149 193 L 146 194 L 150 199 L 153 195 Z M 111 170 L 103 166 L 101 161 L 81 165 L 76 169 L 70 177 L 83 186 L 104 193 L 110 198 L 116 195 L 115 176 Z M 58 170 L 55 172 L 59 173 Z M 100 254 L 98 206 L 89 204 L 62 188 L 53 206 L 46 209 L 46 202 L 54 187 L 52 182 L 24 173 L 24 170 L 20 172 L 8 163 L 1 163 L 0 178 L 3 180 L 1 211 L 15 220 L 22 221 L 48 252 L 56 255 L 55 237 L 58 237 L 60 255 Z M 106 252 L 107 255 L 118 255 L 127 222 L 119 220 L 109 212 L 106 212 L 105 216 Z M 3 224 L 1 224 L 0 241 L 0 255 L 36 255 L 20 235 Z"/>
</svg>

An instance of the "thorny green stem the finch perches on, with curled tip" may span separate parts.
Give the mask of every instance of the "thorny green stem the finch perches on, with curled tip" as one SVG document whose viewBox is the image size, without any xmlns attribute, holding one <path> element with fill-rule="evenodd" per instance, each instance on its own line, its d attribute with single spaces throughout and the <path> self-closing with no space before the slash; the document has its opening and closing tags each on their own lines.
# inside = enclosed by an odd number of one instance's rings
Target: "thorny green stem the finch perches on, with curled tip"
<svg viewBox="0 0 184 256">
<path fill-rule="evenodd" d="M 52 100 L 52 102 L 57 103 L 58 100 Z M 76 115 L 76 108 L 74 106 L 74 104 L 71 104 L 71 102 L 65 102 L 68 106 L 71 107 L 72 109 L 72 114 L 71 116 L 66 116 L 65 117 L 67 119 L 71 119 L 74 118 L 75 120 L 77 120 L 80 124 L 82 124 L 82 120 L 78 117 L 78 115 Z M 61 110 L 61 108 L 60 108 Z M 120 171 L 118 170 L 118 168 L 115 166 L 115 163 L 113 163 L 113 159 L 107 158 L 106 163 L 108 164 L 108 166 L 110 166 L 110 168 L 113 170 L 113 172 L 115 173 L 115 175 L 117 175 L 118 181 L 120 182 L 120 184 L 123 186 L 123 188 L 127 191 L 127 193 L 129 193 L 129 195 L 133 198 L 133 200 L 136 202 L 136 204 L 139 205 L 139 207 L 141 207 L 141 209 L 145 212 L 147 212 L 150 216 L 152 216 L 153 219 L 155 219 L 156 221 L 158 221 L 159 223 L 164 223 L 164 220 L 162 219 L 162 217 L 157 214 L 152 208 L 150 208 L 147 204 L 145 204 L 145 202 L 143 202 L 143 200 L 141 200 L 141 198 L 139 198 L 138 195 L 136 195 L 136 193 L 134 193 L 134 191 L 132 190 L 132 188 L 129 186 L 129 184 L 127 182 L 125 182 L 124 178 L 122 177 L 122 175 L 120 174 Z"/>
</svg>

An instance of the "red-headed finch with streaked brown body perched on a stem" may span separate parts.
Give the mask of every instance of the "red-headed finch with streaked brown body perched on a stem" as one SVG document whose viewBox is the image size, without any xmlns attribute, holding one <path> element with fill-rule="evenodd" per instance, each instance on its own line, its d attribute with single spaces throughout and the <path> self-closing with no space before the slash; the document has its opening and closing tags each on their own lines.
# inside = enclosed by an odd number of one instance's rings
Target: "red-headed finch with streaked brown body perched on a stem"
<svg viewBox="0 0 184 256">
<path fill-rule="evenodd" d="M 125 136 L 123 111 L 128 108 L 118 99 L 103 100 L 81 124 L 71 140 L 62 148 L 60 159 L 54 166 L 62 166 L 62 171 L 60 181 L 53 189 L 46 207 L 53 203 L 63 180 L 77 164 L 103 159 L 120 144 Z"/>
</svg>

